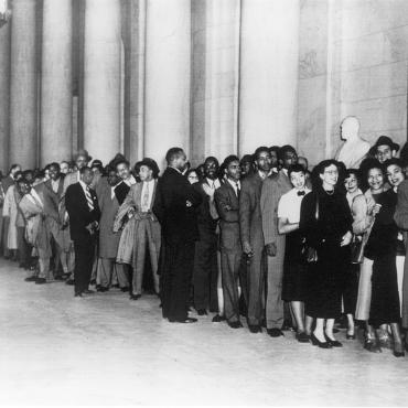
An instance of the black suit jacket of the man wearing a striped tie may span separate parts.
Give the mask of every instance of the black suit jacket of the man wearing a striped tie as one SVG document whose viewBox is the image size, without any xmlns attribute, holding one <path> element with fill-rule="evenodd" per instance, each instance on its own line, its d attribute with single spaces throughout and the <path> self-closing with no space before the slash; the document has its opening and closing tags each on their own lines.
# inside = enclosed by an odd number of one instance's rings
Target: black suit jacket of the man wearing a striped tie
<svg viewBox="0 0 408 408">
<path fill-rule="evenodd" d="M 66 211 L 69 215 L 69 232 L 73 240 L 84 240 L 90 237 L 86 227 L 100 218 L 98 198 L 94 190 L 90 190 L 94 210 L 90 212 L 85 192 L 79 182 L 68 186 L 65 193 Z"/>
</svg>

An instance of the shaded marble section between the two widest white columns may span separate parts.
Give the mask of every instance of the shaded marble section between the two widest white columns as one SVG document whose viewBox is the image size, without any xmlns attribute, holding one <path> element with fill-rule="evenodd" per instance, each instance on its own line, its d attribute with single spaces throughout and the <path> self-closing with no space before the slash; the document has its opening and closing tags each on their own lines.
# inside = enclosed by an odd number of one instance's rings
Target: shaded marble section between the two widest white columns
<svg viewBox="0 0 408 408">
<path fill-rule="evenodd" d="M 237 153 L 240 0 L 193 0 L 192 161 Z"/>
</svg>

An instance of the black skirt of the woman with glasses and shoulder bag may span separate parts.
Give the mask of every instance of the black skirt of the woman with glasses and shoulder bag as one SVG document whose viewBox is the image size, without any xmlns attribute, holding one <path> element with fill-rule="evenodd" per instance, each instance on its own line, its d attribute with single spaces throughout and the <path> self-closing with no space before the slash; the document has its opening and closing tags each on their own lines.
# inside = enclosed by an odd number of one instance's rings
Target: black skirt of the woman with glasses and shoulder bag
<svg viewBox="0 0 408 408">
<path fill-rule="evenodd" d="M 315 319 L 336 319 L 342 312 L 344 275 L 350 268 L 350 246 L 326 241 L 318 249 L 318 262 L 309 265 L 305 313 Z"/>
</svg>

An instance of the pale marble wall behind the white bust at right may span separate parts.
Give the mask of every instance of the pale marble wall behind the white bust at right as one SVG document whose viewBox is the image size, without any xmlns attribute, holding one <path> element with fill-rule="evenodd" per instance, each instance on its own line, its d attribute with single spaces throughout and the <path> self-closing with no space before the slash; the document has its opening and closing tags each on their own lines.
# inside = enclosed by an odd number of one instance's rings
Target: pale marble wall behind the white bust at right
<svg viewBox="0 0 408 408">
<path fill-rule="evenodd" d="M 341 144 L 354 115 L 371 143 L 407 140 L 408 1 L 303 0 L 298 147 L 312 164 Z"/>
</svg>

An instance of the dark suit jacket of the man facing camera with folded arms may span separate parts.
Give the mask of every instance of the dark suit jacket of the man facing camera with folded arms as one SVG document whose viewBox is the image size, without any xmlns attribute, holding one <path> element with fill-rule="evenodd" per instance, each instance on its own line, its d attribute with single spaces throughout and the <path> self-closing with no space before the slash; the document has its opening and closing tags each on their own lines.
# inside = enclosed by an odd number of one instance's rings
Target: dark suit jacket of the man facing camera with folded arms
<svg viewBox="0 0 408 408">
<path fill-rule="evenodd" d="M 235 190 L 225 182 L 214 194 L 219 214 L 221 247 L 226 250 L 240 250 L 239 198 Z"/>
</svg>

